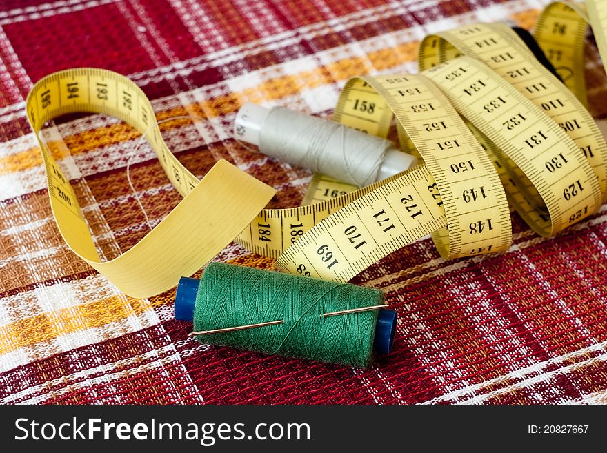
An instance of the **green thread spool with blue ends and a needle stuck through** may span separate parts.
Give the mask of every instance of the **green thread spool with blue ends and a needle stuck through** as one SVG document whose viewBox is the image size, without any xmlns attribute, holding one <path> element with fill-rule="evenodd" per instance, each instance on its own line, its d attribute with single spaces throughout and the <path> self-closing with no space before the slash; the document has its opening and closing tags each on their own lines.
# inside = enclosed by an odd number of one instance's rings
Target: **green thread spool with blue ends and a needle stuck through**
<svg viewBox="0 0 607 453">
<path fill-rule="evenodd" d="M 210 263 L 199 282 L 182 278 L 175 298 L 177 319 L 192 320 L 187 304 L 194 293 L 195 331 L 283 320 L 278 325 L 197 336 L 203 343 L 266 354 L 367 367 L 373 359 L 376 325 L 378 332 L 388 332 L 389 350 L 396 324 L 395 312 L 385 309 L 321 317 L 383 306 L 381 291 L 237 265 Z M 388 312 L 389 323 L 377 324 L 379 311 Z"/>
</svg>

